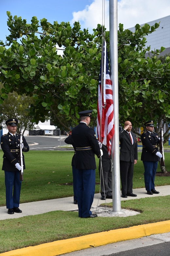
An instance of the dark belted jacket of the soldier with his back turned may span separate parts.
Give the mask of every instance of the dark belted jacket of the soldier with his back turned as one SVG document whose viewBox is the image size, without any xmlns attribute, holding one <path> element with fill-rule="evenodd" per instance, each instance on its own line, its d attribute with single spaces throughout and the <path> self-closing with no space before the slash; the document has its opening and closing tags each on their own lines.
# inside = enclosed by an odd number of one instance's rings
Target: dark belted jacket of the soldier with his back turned
<svg viewBox="0 0 170 256">
<path fill-rule="evenodd" d="M 96 169 L 94 154 L 100 158 L 100 147 L 94 129 L 80 122 L 72 130 L 72 139 L 76 147 L 75 168 Z"/>
</svg>

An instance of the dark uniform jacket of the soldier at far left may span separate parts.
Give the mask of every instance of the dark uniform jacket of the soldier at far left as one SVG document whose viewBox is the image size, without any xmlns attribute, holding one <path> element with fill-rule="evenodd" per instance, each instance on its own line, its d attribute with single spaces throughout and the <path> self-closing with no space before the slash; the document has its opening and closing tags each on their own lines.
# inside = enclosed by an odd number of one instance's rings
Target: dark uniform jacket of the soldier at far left
<svg viewBox="0 0 170 256">
<path fill-rule="evenodd" d="M 18 169 L 15 167 L 15 164 L 19 162 L 20 146 L 18 146 L 18 144 L 20 144 L 20 134 L 16 133 L 16 139 L 14 139 L 10 133 L 5 134 L 1 137 L 1 148 L 4 152 L 2 170 L 18 171 Z M 29 146 L 24 136 L 23 136 L 23 144 L 24 144 L 24 147 L 22 151 L 23 152 L 29 151 Z M 10 152 L 11 149 L 18 149 L 18 152 Z M 23 165 L 25 169 L 24 155 L 23 155 Z"/>
</svg>

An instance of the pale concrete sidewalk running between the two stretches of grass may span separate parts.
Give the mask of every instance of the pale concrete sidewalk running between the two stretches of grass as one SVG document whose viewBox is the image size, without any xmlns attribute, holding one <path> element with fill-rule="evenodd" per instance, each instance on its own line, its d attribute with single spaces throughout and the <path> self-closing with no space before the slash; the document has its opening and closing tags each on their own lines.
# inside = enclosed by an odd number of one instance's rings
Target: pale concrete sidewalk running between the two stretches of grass
<svg viewBox="0 0 170 256">
<path fill-rule="evenodd" d="M 139 198 L 147 198 L 147 197 L 158 197 L 158 196 L 167 196 L 170 195 L 170 185 L 169 186 L 159 186 L 155 187 L 157 191 L 160 192 L 160 194 L 153 194 L 153 195 L 147 195 L 145 188 L 137 188 L 133 189 L 133 193 L 137 194 L 137 197 L 127 197 L 122 198 L 121 201 L 126 201 L 130 199 L 139 199 Z M 106 199 L 107 203 L 111 203 L 112 199 Z M 94 200 L 92 204 L 92 210 L 95 211 L 97 206 L 99 206 L 101 203 L 105 203 L 104 200 L 101 200 L 100 194 L 94 195 Z M 76 211 L 78 210 L 77 204 L 73 203 L 73 197 L 66 197 L 66 198 L 57 198 L 57 199 L 51 199 L 51 200 L 44 200 L 44 201 L 38 201 L 38 202 L 30 202 L 30 203 L 21 203 L 19 205 L 19 208 L 22 210 L 22 213 L 14 213 L 14 214 L 8 214 L 8 209 L 6 206 L 0 207 L 0 220 L 6 220 L 6 219 L 15 219 L 20 218 L 23 216 L 29 216 L 29 215 L 37 215 L 42 214 L 46 212 L 51 211 Z M 121 214 L 121 213 L 120 213 Z"/>
</svg>

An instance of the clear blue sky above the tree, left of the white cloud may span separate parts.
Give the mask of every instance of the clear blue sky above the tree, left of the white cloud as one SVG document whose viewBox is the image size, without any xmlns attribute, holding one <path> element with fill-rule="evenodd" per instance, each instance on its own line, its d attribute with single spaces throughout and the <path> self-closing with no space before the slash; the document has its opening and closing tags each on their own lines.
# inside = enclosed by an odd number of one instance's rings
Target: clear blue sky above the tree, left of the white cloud
<svg viewBox="0 0 170 256">
<path fill-rule="evenodd" d="M 1 1 L 0 1 L 1 2 Z M 8 34 L 7 11 L 11 15 L 21 16 L 30 23 L 31 18 L 36 16 L 38 20 L 46 18 L 48 22 L 54 21 L 71 21 L 73 19 L 73 12 L 83 10 L 86 5 L 90 5 L 93 0 L 8 0 L 0 3 L 0 40 L 5 39 Z"/>
</svg>

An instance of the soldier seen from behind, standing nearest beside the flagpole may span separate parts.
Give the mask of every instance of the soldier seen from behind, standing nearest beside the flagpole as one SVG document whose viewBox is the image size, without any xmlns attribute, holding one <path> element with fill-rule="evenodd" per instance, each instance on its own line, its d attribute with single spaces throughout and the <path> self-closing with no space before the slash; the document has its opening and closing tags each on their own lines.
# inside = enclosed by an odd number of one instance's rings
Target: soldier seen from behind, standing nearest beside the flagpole
<svg viewBox="0 0 170 256">
<path fill-rule="evenodd" d="M 94 154 L 98 158 L 101 150 L 95 136 L 94 129 L 89 126 L 92 110 L 81 111 L 80 123 L 72 130 L 72 139 L 76 146 L 75 168 L 77 171 L 77 203 L 78 217 L 93 218 L 91 206 L 95 191 L 95 169 Z"/>
</svg>

